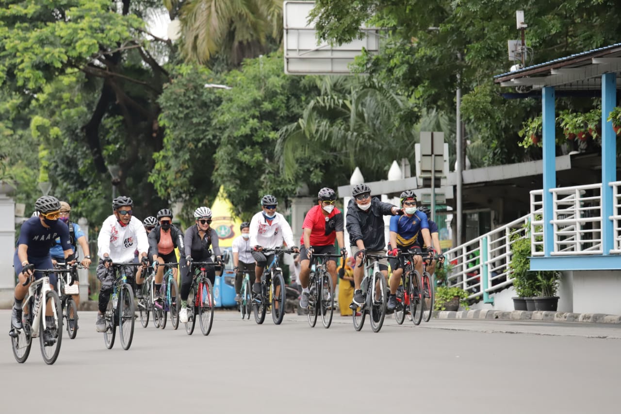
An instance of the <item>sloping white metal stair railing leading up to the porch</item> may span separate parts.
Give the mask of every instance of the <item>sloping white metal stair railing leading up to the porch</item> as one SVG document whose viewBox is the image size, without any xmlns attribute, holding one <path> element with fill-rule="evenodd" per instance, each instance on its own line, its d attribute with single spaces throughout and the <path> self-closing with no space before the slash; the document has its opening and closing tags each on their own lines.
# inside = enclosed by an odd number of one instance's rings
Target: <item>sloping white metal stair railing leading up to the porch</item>
<svg viewBox="0 0 621 414">
<path fill-rule="evenodd" d="M 511 246 L 517 239 L 526 237 L 529 219 L 527 214 L 444 252 L 450 268 L 446 284 L 468 291 L 469 298 L 484 297 L 483 293 L 511 285 Z"/>
</svg>

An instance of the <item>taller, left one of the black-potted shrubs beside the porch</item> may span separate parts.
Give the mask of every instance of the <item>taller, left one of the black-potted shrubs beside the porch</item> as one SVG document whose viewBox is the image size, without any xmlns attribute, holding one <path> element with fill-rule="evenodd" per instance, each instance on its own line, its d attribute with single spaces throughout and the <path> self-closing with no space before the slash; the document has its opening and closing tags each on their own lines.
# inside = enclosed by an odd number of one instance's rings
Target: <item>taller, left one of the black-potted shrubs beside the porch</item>
<svg viewBox="0 0 621 414">
<path fill-rule="evenodd" d="M 530 239 L 515 234 L 511 254 L 509 274 L 517 293 L 517 297 L 513 298 L 515 310 L 535 310 L 532 297 L 537 295 L 537 274 L 530 270 Z"/>
</svg>

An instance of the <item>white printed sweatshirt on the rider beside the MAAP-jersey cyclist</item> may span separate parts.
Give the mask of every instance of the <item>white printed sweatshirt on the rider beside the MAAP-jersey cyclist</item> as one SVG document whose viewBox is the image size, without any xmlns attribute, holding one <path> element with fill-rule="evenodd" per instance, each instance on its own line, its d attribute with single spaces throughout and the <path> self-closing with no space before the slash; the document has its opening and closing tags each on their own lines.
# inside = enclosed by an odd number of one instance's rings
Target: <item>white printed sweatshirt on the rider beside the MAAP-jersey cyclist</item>
<svg viewBox="0 0 621 414">
<path fill-rule="evenodd" d="M 130 219 L 129 224 L 123 227 L 112 214 L 101 225 L 101 231 L 97 237 L 97 247 L 97 255 L 101 259 L 107 253 L 113 262 L 133 262 L 136 249 L 141 255 L 148 252 L 147 231 L 145 231 L 142 222 L 134 216 Z"/>
</svg>

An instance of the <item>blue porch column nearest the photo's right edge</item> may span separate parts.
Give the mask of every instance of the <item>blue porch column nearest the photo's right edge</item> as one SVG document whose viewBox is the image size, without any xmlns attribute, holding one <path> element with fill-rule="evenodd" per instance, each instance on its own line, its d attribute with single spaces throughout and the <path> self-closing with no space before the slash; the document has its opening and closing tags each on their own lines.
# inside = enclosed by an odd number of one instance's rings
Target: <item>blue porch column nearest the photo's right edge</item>
<svg viewBox="0 0 621 414">
<path fill-rule="evenodd" d="M 614 226 L 612 220 L 612 187 L 617 181 L 617 136 L 612 129 L 608 115 L 617 103 L 617 74 L 602 75 L 602 253 L 610 254 L 614 246 Z"/>
</svg>

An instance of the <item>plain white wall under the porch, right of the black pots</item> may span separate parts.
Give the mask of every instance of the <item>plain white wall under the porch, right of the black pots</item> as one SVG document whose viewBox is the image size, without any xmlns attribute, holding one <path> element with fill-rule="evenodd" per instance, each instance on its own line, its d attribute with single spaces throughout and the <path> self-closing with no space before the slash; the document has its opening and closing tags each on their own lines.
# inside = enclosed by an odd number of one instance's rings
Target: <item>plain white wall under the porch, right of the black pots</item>
<svg viewBox="0 0 621 414">
<path fill-rule="evenodd" d="M 574 271 L 572 278 L 574 312 L 621 315 L 621 271 Z"/>
</svg>

